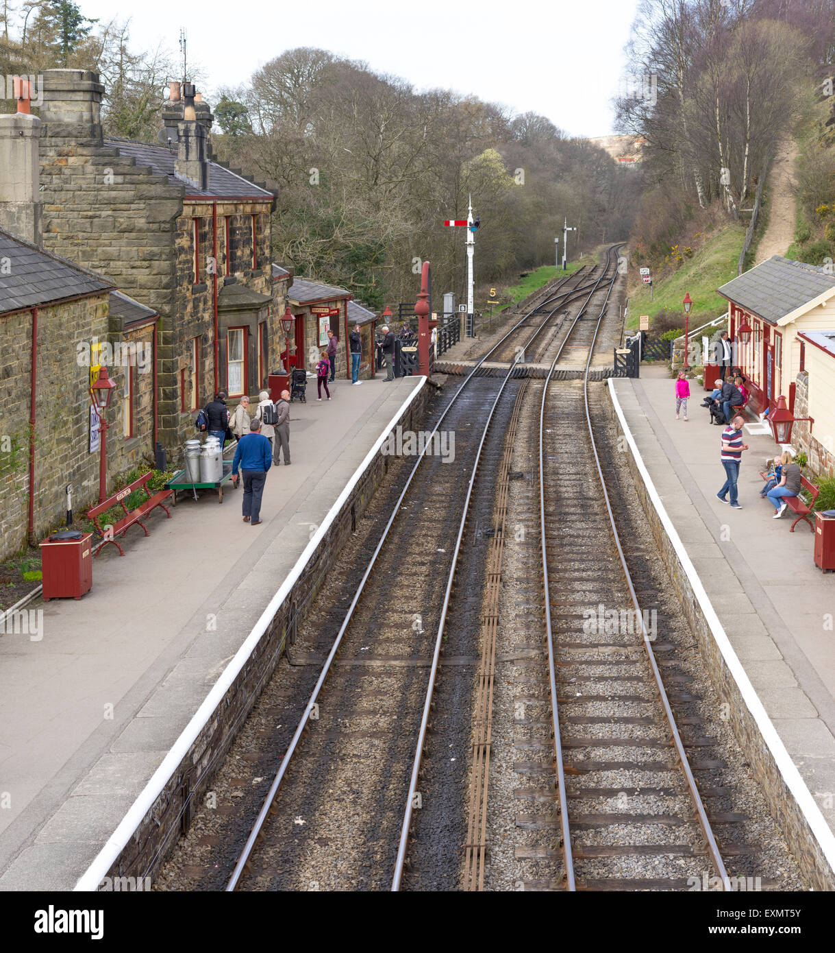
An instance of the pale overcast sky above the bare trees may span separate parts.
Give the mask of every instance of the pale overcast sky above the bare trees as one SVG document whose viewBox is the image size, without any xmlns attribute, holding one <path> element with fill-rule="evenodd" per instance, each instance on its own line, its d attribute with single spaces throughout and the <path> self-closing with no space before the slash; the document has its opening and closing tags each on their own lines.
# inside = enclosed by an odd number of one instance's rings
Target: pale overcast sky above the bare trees
<svg viewBox="0 0 835 953">
<path fill-rule="evenodd" d="M 320 47 L 403 76 L 418 90 L 474 93 L 517 112 L 540 112 L 573 135 L 593 136 L 613 131 L 610 99 L 638 0 L 77 2 L 103 23 L 129 17 L 134 49 L 162 42 L 177 51 L 184 26 L 189 60 L 208 73 L 209 92 L 246 82 L 285 50 Z"/>
</svg>

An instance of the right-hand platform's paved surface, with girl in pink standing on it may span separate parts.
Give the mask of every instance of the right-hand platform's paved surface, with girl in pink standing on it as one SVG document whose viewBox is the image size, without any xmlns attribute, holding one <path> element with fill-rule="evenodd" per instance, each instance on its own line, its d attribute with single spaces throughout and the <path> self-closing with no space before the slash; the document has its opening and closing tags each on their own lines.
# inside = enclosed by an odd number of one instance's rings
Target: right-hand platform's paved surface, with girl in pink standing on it
<svg viewBox="0 0 835 953">
<path fill-rule="evenodd" d="M 772 519 L 759 497 L 771 436 L 746 434 L 743 509 L 733 511 L 716 498 L 722 431 L 708 426 L 701 397 L 691 398 L 688 421 L 676 420 L 666 371 L 641 374 L 612 382 L 626 423 L 748 679 L 835 831 L 835 584 L 814 565 L 808 528 L 789 533 L 789 520 Z"/>
</svg>

